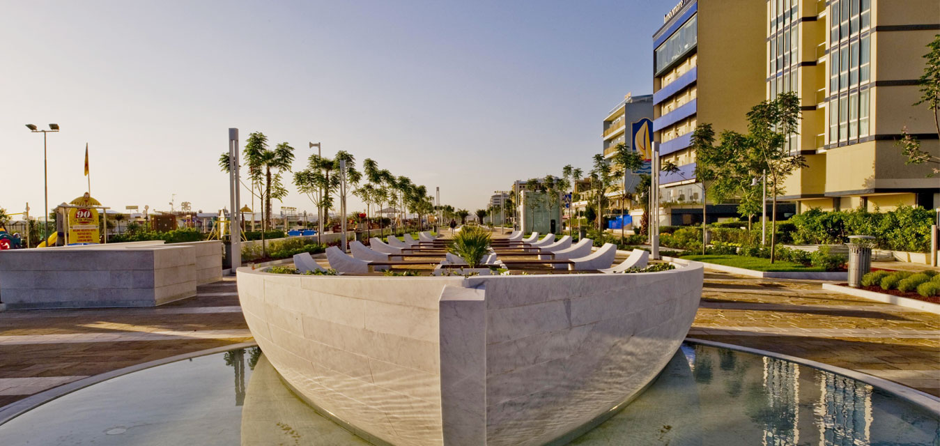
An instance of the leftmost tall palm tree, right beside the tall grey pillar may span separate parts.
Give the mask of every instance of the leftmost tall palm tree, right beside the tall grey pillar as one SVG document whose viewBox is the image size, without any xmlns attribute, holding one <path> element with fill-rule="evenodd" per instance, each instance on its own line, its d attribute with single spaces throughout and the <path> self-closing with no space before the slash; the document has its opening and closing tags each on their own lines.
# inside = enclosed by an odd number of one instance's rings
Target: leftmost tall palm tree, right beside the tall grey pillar
<svg viewBox="0 0 940 446">
<path fill-rule="evenodd" d="M 261 255 L 267 256 L 264 232 L 271 225 L 271 199 L 283 199 L 288 194 L 288 190 L 281 183 L 281 176 L 285 171 L 290 172 L 294 158 L 293 148 L 282 142 L 274 150 L 270 150 L 268 136 L 255 132 L 248 135 L 243 155 L 245 164 L 248 165 L 248 178 L 251 179 L 252 188 L 258 189 L 257 197 L 262 203 Z M 228 171 L 228 153 L 222 153 L 219 157 L 219 166 Z M 232 209 L 231 212 L 236 213 L 238 210 Z"/>
</svg>

